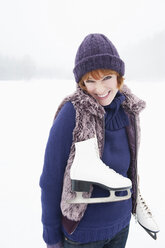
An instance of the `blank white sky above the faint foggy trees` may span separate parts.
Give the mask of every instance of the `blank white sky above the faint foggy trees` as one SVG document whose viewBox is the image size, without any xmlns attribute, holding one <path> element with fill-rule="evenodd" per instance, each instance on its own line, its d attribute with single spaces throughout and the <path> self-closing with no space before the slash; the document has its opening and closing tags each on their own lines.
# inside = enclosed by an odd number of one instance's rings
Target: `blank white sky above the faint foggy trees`
<svg viewBox="0 0 165 248">
<path fill-rule="evenodd" d="M 70 70 L 87 34 L 104 33 L 120 54 L 165 31 L 164 9 L 164 0 L 1 0 L 0 55 Z"/>
</svg>

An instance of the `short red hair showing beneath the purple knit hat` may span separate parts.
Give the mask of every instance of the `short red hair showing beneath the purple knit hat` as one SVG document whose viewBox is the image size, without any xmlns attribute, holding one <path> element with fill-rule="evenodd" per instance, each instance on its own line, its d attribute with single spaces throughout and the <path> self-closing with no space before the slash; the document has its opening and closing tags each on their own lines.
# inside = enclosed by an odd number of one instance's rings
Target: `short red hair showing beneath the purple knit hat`
<svg viewBox="0 0 165 248">
<path fill-rule="evenodd" d="M 124 77 L 122 77 L 118 72 L 110 69 L 97 69 L 87 72 L 78 83 L 80 88 L 87 91 L 86 86 L 84 84 L 84 80 L 87 80 L 90 76 L 92 76 L 95 80 L 99 80 L 101 78 L 101 74 L 103 74 L 104 76 L 109 74 L 115 74 L 117 76 L 118 89 L 121 90 L 124 83 Z"/>
</svg>

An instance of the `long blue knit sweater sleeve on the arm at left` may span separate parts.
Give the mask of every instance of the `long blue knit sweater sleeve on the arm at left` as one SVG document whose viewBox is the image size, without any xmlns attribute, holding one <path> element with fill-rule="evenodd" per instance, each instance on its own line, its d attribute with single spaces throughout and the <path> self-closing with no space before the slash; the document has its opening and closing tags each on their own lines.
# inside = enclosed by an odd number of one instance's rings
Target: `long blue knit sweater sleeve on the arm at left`
<svg viewBox="0 0 165 248">
<path fill-rule="evenodd" d="M 72 145 L 75 116 L 73 104 L 66 102 L 54 120 L 45 149 L 39 185 L 43 239 L 47 245 L 55 245 L 62 240 L 60 202 L 63 176 Z"/>
</svg>

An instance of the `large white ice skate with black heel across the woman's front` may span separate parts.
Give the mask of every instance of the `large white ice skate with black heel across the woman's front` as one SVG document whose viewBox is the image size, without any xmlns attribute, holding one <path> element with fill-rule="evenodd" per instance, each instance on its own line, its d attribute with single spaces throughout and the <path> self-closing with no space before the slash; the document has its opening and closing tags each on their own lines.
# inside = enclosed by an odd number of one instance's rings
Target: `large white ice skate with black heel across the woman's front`
<svg viewBox="0 0 165 248">
<path fill-rule="evenodd" d="M 116 173 L 105 165 L 99 156 L 97 138 L 75 143 L 75 158 L 70 170 L 72 191 L 76 198 L 69 203 L 101 203 L 127 200 L 131 197 L 131 180 Z M 96 184 L 110 191 L 109 197 L 83 198 L 90 185 Z M 124 196 L 116 196 L 116 191 L 127 191 Z"/>
</svg>

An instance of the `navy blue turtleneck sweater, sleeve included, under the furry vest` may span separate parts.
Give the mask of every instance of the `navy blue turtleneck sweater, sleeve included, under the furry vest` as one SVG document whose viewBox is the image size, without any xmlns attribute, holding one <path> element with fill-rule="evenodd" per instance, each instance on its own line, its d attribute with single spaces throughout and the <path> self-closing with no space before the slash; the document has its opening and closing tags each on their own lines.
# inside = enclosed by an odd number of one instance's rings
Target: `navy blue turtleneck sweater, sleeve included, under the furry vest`
<svg viewBox="0 0 165 248">
<path fill-rule="evenodd" d="M 104 106 L 105 144 L 101 159 L 116 172 L 127 177 L 130 150 L 125 126 L 129 125 L 129 122 L 121 105 L 124 99 L 125 96 L 118 91 L 112 103 Z M 131 199 L 88 204 L 84 217 L 72 235 L 68 235 L 62 227 L 60 201 L 63 175 L 74 127 L 75 109 L 71 102 L 67 102 L 51 127 L 40 177 L 43 238 L 47 244 L 58 243 L 63 233 L 69 239 L 82 243 L 112 238 L 129 224 L 131 218 Z M 122 192 L 120 194 L 122 195 Z M 108 195 L 107 190 L 94 186 L 92 197 Z"/>
</svg>

